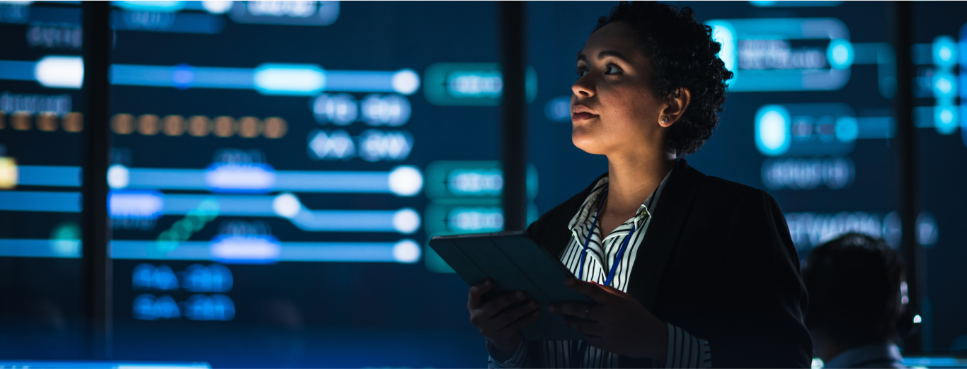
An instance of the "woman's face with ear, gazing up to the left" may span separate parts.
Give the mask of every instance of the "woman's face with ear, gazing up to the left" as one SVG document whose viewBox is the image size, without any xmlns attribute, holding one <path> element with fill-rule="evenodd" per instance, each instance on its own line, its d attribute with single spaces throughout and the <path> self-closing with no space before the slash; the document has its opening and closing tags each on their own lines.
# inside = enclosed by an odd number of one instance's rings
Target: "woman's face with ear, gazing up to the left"
<svg viewBox="0 0 967 369">
<path fill-rule="evenodd" d="M 596 155 L 661 149 L 667 101 L 651 89 L 651 64 L 622 21 L 601 27 L 577 54 L 571 86 L 571 141 Z M 669 124 L 670 126 L 670 124 Z"/>
</svg>

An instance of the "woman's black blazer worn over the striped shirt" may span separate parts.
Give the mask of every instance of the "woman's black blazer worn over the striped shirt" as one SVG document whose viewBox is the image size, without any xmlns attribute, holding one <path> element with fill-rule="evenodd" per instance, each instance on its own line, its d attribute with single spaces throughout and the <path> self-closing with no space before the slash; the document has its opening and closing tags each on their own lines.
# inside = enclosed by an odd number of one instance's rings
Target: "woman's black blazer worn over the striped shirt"
<svg viewBox="0 0 967 369">
<path fill-rule="evenodd" d="M 571 240 L 568 223 L 597 182 L 532 223 L 531 237 L 561 255 Z M 628 293 L 661 321 L 708 340 L 713 368 L 809 368 L 806 288 L 776 200 L 682 159 L 656 210 Z M 626 356 L 619 363 L 651 367 Z"/>
</svg>

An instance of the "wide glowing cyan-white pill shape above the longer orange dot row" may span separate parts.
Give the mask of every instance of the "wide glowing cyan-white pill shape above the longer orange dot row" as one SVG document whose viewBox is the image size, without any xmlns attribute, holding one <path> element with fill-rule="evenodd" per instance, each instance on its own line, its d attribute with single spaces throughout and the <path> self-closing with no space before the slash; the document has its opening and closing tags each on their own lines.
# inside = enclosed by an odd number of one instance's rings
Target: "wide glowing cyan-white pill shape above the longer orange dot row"
<svg viewBox="0 0 967 369">
<path fill-rule="evenodd" d="M 263 64 L 252 82 L 264 95 L 313 96 L 326 88 L 326 72 L 311 64 Z"/>
</svg>

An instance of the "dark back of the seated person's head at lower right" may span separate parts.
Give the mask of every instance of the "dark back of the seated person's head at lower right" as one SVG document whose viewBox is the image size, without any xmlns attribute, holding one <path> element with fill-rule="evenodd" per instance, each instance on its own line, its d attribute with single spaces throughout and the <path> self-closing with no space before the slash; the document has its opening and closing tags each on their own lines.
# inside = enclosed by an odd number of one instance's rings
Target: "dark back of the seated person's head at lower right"
<svg viewBox="0 0 967 369">
<path fill-rule="evenodd" d="M 810 252 L 803 279 L 806 326 L 828 368 L 850 368 L 861 359 L 883 363 L 871 368 L 898 365 L 893 342 L 906 323 L 908 298 L 903 260 L 894 249 L 846 234 Z"/>
</svg>

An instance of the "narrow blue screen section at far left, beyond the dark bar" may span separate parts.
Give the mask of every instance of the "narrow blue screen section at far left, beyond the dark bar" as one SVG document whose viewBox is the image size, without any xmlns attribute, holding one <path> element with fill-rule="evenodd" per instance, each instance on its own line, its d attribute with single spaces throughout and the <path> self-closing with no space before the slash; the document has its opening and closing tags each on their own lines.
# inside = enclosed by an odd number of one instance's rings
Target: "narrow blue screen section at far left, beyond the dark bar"
<svg viewBox="0 0 967 369">
<path fill-rule="evenodd" d="M 80 10 L 36 8 L 0 1 L 0 357 L 83 357 Z"/>
</svg>

